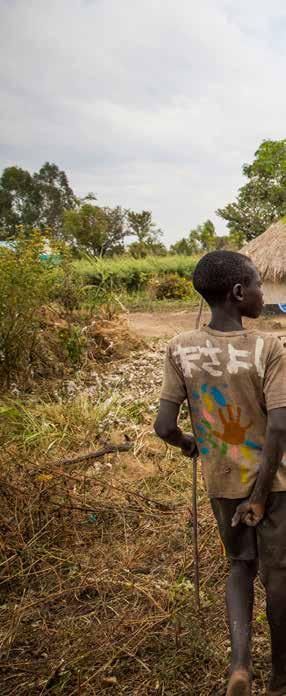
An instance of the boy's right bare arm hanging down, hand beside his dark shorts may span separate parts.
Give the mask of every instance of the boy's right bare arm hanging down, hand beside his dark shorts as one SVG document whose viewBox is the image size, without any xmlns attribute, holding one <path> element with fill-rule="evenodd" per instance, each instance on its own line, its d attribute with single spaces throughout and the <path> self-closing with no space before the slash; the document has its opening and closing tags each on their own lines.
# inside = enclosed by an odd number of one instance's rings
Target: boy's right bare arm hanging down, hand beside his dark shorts
<svg viewBox="0 0 286 696">
<path fill-rule="evenodd" d="M 266 500 L 285 451 L 286 408 L 275 408 L 268 413 L 262 463 L 253 491 L 248 500 L 237 507 L 232 521 L 234 527 L 239 522 L 255 527 L 263 518 Z"/>
</svg>

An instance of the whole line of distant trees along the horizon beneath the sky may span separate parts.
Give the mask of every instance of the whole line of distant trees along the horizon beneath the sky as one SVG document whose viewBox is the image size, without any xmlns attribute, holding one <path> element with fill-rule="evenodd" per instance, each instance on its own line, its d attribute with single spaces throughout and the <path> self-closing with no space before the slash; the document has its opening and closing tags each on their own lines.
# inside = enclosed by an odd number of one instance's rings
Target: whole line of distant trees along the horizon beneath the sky
<svg viewBox="0 0 286 696">
<path fill-rule="evenodd" d="M 213 222 L 206 220 L 167 250 L 151 211 L 99 206 L 93 193 L 79 198 L 56 164 L 46 162 L 32 174 L 21 167 L 7 167 L 0 177 L 0 240 L 29 236 L 37 228 L 65 240 L 76 253 L 127 253 L 135 258 L 239 248 L 286 215 L 286 139 L 263 141 L 253 163 L 243 165 L 243 174 L 247 182 L 236 200 L 217 210 L 229 235 L 217 235 Z M 130 237 L 134 241 L 127 244 Z"/>
</svg>

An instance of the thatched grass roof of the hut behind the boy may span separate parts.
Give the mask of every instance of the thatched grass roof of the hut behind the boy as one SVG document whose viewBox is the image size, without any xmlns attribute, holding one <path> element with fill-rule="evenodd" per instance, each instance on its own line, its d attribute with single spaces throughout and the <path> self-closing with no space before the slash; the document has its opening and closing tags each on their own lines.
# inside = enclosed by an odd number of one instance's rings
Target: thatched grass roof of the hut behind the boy
<svg viewBox="0 0 286 696">
<path fill-rule="evenodd" d="M 245 244 L 241 253 L 251 258 L 263 280 L 286 280 L 286 218 Z"/>
</svg>

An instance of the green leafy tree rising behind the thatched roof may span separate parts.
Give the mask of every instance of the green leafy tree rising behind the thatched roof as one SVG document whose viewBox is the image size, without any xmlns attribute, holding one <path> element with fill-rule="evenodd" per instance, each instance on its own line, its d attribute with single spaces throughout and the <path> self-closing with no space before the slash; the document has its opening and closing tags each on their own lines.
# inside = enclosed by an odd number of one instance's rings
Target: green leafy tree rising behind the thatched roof
<svg viewBox="0 0 286 696">
<path fill-rule="evenodd" d="M 242 168 L 247 183 L 237 199 L 217 214 L 227 221 L 231 234 L 249 241 L 286 214 L 286 139 L 264 140 L 252 164 Z"/>
</svg>

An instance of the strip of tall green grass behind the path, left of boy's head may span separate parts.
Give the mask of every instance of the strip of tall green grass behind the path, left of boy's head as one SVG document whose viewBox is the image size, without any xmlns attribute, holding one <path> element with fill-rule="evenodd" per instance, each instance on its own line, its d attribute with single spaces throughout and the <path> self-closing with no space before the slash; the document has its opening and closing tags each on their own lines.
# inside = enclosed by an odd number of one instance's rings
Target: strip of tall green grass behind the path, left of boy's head
<svg viewBox="0 0 286 696">
<path fill-rule="evenodd" d="M 82 259 L 75 261 L 74 266 L 91 285 L 134 292 L 146 288 L 155 276 L 178 273 L 183 278 L 191 279 L 197 261 L 196 256 L 183 255 L 146 256 L 144 259 L 119 256 L 113 259 Z"/>
</svg>

